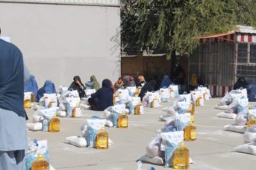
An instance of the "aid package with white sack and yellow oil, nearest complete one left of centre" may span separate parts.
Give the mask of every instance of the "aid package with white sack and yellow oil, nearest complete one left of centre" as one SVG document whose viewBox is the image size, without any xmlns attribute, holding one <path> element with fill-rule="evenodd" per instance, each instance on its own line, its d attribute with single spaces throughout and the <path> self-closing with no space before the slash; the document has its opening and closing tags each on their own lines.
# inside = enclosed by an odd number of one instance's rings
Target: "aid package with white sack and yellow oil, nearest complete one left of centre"
<svg viewBox="0 0 256 170">
<path fill-rule="evenodd" d="M 105 126 L 106 119 L 87 119 L 86 123 L 81 125 L 81 135 L 67 137 L 66 140 L 69 144 L 79 148 L 101 148 L 99 145 L 102 145 L 102 148 L 109 148 L 109 145 L 112 145 L 112 141 L 104 130 Z M 103 138 L 99 136 L 102 131 L 105 134 Z"/>
</svg>

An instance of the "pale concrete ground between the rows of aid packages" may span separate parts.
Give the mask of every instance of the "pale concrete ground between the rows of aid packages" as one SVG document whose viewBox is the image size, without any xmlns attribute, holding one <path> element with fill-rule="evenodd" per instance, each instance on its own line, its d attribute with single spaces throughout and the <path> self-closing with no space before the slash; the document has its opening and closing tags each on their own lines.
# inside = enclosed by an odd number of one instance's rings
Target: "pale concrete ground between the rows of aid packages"
<svg viewBox="0 0 256 170">
<path fill-rule="evenodd" d="M 219 103 L 220 98 L 206 102 L 204 107 L 196 107 L 195 125 L 198 138 L 196 141 L 186 142 L 190 155 L 195 164 L 189 169 L 203 170 L 234 170 L 254 169 L 256 156 L 230 152 L 237 145 L 244 143 L 243 134 L 223 131 L 223 126 L 233 123 L 233 120 L 218 118 L 216 114 L 221 110 L 213 107 Z M 162 104 L 163 107 L 171 105 Z M 164 122 L 158 121 L 160 108 L 145 108 L 144 115 L 129 116 L 129 128 L 106 128 L 114 144 L 108 150 L 93 148 L 77 148 L 68 145 L 64 138 L 80 134 L 81 124 L 85 119 L 102 112 L 85 110 L 83 118 L 61 118 L 61 132 L 33 132 L 29 131 L 31 139 L 47 139 L 50 153 L 50 163 L 56 169 L 106 169 L 106 170 L 135 170 L 137 158 L 145 154 L 145 147 L 156 134 L 155 131 L 163 128 Z M 31 117 L 33 110 L 28 110 Z M 158 169 L 167 169 L 162 166 L 143 163 L 143 169 L 150 166 Z"/>
</svg>

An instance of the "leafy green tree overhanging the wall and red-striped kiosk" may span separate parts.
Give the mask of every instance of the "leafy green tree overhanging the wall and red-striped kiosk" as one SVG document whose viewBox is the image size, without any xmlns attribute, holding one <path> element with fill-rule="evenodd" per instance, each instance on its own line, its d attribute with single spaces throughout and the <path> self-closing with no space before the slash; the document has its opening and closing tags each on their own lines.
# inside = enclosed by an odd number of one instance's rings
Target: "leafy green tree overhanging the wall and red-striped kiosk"
<svg viewBox="0 0 256 170">
<path fill-rule="evenodd" d="M 190 54 L 199 36 L 255 26 L 255 0 L 124 0 L 122 41 L 131 49 Z"/>
</svg>

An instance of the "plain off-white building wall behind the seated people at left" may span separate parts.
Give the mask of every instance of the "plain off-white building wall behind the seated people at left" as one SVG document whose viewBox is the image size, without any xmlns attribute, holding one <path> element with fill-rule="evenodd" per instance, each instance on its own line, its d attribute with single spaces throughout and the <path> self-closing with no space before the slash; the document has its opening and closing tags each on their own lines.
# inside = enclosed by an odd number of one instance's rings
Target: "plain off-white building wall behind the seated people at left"
<svg viewBox="0 0 256 170">
<path fill-rule="evenodd" d="M 45 80 L 68 86 L 120 76 L 119 5 L 61 5 L 0 1 L 2 36 L 22 50 L 39 87 Z"/>
</svg>

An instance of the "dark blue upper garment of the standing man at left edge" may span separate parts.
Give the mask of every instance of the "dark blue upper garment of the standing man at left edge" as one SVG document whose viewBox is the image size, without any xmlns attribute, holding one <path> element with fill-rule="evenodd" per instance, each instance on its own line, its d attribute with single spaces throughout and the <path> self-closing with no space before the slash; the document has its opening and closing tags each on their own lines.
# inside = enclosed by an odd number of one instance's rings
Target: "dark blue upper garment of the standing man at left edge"
<svg viewBox="0 0 256 170">
<path fill-rule="evenodd" d="M 24 110 L 24 64 L 21 51 L 0 39 L 0 108 L 26 117 Z"/>
</svg>

